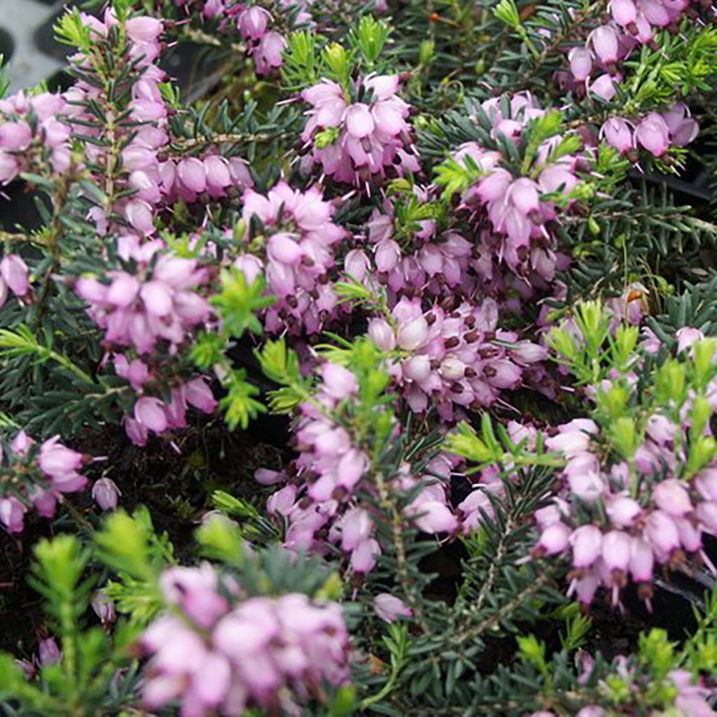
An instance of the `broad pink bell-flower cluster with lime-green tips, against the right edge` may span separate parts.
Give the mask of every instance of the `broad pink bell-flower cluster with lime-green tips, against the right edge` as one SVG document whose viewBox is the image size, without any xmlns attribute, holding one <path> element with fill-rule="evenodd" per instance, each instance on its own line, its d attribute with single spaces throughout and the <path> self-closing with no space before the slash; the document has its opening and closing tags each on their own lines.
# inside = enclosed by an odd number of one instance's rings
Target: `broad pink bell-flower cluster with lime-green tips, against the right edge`
<svg viewBox="0 0 717 717">
<path fill-rule="evenodd" d="M 683 349 L 700 352 L 704 366 L 713 348 L 696 334 Z M 708 424 L 717 383 L 711 379 L 705 393 L 688 393 L 682 371 L 697 370 L 690 366 L 674 362 L 657 371 L 661 400 L 639 424 L 631 417 L 602 426 L 573 419 L 546 440 L 565 460 L 564 488 L 536 511 L 541 536 L 533 552 L 571 556 L 570 592 L 580 602 L 592 602 L 602 586 L 617 603 L 630 579 L 649 599 L 657 566 L 706 564 L 716 571 L 703 536 L 717 535 L 717 463 Z M 589 393 L 598 406 L 610 405 L 622 403 L 634 387 L 635 376 L 628 374 Z"/>
</svg>

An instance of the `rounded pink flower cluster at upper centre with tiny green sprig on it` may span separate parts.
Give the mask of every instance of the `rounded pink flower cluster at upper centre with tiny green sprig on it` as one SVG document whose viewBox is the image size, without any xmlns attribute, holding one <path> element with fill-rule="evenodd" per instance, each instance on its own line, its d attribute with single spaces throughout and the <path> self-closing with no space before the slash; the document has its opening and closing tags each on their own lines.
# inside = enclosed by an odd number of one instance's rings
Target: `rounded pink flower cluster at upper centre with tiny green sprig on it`
<svg viewBox="0 0 717 717">
<path fill-rule="evenodd" d="M 308 165 L 369 193 L 371 181 L 419 171 L 399 85 L 399 75 L 369 75 L 348 88 L 322 80 L 304 90 L 301 98 L 311 105 L 301 135 Z"/>
</svg>

